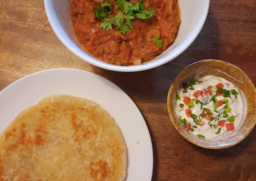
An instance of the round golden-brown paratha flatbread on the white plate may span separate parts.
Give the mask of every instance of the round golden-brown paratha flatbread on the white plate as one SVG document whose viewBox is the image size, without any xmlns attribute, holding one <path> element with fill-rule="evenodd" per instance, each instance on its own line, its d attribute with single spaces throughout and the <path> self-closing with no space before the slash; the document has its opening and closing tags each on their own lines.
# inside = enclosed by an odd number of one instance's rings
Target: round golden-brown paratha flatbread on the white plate
<svg viewBox="0 0 256 181">
<path fill-rule="evenodd" d="M 0 138 L 0 180 L 123 180 L 126 150 L 98 104 L 57 95 L 22 111 Z"/>
</svg>

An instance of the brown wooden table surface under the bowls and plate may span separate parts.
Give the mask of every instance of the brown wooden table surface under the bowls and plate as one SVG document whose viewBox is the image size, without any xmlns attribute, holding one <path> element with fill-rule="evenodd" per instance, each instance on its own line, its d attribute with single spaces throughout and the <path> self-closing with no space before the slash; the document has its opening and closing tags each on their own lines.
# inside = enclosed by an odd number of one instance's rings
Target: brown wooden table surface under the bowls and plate
<svg viewBox="0 0 256 181">
<path fill-rule="evenodd" d="M 255 128 L 233 147 L 204 149 L 178 133 L 166 107 L 172 80 L 198 60 L 232 63 L 256 85 L 255 9 L 256 0 L 211 0 L 204 27 L 184 53 L 151 70 L 123 73 L 92 66 L 64 47 L 49 25 L 42 0 L 1 0 L 0 90 L 44 69 L 94 72 L 122 88 L 144 116 L 153 144 L 152 180 L 256 180 Z"/>
</svg>

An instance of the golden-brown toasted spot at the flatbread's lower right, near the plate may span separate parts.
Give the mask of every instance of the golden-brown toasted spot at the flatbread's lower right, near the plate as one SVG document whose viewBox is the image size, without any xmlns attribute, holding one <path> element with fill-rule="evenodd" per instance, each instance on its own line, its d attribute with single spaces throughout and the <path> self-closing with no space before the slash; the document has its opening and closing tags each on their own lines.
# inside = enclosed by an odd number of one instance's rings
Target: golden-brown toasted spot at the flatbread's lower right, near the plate
<svg viewBox="0 0 256 181">
<path fill-rule="evenodd" d="M 110 174 L 110 169 L 108 168 L 107 162 L 99 160 L 97 162 L 90 163 L 90 175 L 95 180 L 105 180 L 105 178 Z"/>
</svg>

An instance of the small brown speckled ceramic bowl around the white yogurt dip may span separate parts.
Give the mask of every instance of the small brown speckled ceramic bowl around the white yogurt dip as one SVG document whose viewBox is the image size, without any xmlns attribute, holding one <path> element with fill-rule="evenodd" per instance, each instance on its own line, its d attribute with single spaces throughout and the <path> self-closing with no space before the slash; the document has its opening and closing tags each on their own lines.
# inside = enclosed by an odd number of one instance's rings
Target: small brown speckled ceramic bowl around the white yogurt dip
<svg viewBox="0 0 256 181">
<path fill-rule="evenodd" d="M 247 101 L 247 115 L 242 126 L 238 129 L 235 135 L 231 135 L 228 138 L 220 140 L 204 140 L 185 131 L 185 129 L 183 129 L 181 124 L 178 122 L 174 107 L 176 91 L 181 86 L 182 82 L 191 78 L 194 73 L 199 73 L 199 77 L 207 75 L 222 77 L 232 82 L 244 93 Z M 170 119 L 180 134 L 191 143 L 210 149 L 227 148 L 242 141 L 252 131 L 256 124 L 255 105 L 256 89 L 252 81 L 240 68 L 220 60 L 202 60 L 187 66 L 172 82 L 167 99 Z"/>
</svg>

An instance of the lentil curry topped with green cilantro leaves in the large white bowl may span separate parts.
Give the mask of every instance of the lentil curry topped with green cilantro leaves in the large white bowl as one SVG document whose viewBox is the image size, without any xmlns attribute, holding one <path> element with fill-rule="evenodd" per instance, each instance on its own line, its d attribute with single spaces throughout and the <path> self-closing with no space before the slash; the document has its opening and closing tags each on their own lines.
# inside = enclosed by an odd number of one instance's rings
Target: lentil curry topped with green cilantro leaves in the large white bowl
<svg viewBox="0 0 256 181">
<path fill-rule="evenodd" d="M 78 41 L 87 52 L 114 65 L 140 65 L 166 50 L 178 33 L 179 14 L 177 0 L 71 3 Z"/>
</svg>

